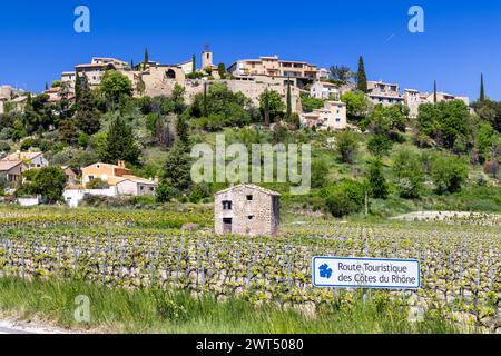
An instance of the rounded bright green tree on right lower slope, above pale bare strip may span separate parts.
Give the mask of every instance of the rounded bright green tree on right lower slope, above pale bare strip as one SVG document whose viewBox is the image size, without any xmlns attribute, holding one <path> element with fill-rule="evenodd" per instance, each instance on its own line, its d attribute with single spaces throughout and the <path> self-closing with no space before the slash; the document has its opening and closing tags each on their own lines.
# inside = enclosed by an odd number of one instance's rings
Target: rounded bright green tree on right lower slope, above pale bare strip
<svg viewBox="0 0 501 356">
<path fill-rule="evenodd" d="M 432 160 L 432 179 L 439 194 L 456 192 L 468 178 L 468 165 L 463 158 L 436 155 Z"/>
</svg>

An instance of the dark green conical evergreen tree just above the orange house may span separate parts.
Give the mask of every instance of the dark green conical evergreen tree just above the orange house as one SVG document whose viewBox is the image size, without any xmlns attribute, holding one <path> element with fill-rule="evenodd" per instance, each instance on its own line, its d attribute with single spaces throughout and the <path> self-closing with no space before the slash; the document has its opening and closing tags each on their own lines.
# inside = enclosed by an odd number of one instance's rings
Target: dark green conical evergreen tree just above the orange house
<svg viewBox="0 0 501 356">
<path fill-rule="evenodd" d="M 102 160 L 107 164 L 116 164 L 125 160 L 132 165 L 139 164 L 140 149 L 132 129 L 120 118 L 111 121 L 106 139 L 106 150 Z"/>
</svg>

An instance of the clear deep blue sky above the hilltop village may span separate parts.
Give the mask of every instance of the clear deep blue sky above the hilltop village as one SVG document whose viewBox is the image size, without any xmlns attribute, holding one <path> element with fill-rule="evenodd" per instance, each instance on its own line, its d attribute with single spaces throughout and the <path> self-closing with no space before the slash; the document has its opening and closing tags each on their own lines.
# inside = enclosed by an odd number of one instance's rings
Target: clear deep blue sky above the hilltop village
<svg viewBox="0 0 501 356">
<path fill-rule="evenodd" d="M 249 4 L 253 4 L 252 7 Z M 91 32 L 77 34 L 73 10 L 86 4 Z M 410 33 L 407 10 L 424 9 L 425 32 Z M 356 69 L 402 88 L 479 95 L 501 100 L 501 2 L 384 1 L 2 1 L 0 83 L 39 91 L 92 56 L 175 63 L 199 53 L 215 62 L 278 55 L 321 67 Z"/>
</svg>

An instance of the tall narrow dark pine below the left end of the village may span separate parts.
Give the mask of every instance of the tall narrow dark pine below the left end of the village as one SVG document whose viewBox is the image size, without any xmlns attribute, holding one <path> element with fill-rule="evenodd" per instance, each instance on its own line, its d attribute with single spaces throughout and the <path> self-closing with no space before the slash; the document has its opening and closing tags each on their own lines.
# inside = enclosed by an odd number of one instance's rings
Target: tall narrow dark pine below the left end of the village
<svg viewBox="0 0 501 356">
<path fill-rule="evenodd" d="M 101 123 L 92 103 L 87 77 L 84 76 L 77 80 L 76 87 L 78 87 L 78 90 L 76 88 L 78 96 L 76 97 L 77 113 L 75 115 L 77 127 L 87 135 L 94 135 L 100 130 Z"/>
</svg>

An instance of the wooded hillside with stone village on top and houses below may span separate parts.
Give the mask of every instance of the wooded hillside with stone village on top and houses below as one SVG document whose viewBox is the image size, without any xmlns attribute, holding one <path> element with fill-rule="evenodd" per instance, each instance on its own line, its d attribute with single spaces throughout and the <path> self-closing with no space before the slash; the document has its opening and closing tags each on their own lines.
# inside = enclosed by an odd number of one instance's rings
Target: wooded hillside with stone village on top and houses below
<svg viewBox="0 0 501 356">
<path fill-rule="evenodd" d="M 367 194 L 420 199 L 498 185 L 500 116 L 483 76 L 470 102 L 436 81 L 424 92 L 367 80 L 362 57 L 356 72 L 278 56 L 216 65 L 208 48 L 181 63 L 150 60 L 147 50 L 139 63 L 94 57 L 40 93 L 0 88 L 0 182 L 3 199 L 21 205 L 212 201 L 228 186 L 194 184 L 189 147 L 230 132 L 246 145 L 313 144 L 312 188 L 321 199 L 312 205 L 345 216 L 364 205 L 369 211 Z M 444 165 L 456 168 L 452 177 L 439 172 Z M 51 187 L 39 182 L 42 174 Z M 367 180 L 376 187 L 364 188 Z M 343 206 L 351 189 L 362 198 Z"/>
</svg>

